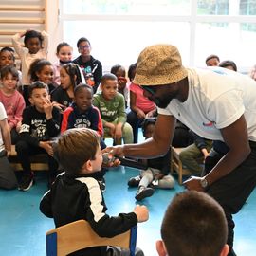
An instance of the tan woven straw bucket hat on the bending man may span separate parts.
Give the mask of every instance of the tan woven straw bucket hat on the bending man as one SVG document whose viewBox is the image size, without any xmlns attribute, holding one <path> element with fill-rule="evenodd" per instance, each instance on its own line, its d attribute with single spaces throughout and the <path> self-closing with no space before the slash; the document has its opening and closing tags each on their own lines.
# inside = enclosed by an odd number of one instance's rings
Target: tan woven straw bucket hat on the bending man
<svg viewBox="0 0 256 256">
<path fill-rule="evenodd" d="M 163 85 L 188 76 L 178 49 L 171 45 L 146 47 L 138 56 L 134 82 L 139 85 Z"/>
</svg>

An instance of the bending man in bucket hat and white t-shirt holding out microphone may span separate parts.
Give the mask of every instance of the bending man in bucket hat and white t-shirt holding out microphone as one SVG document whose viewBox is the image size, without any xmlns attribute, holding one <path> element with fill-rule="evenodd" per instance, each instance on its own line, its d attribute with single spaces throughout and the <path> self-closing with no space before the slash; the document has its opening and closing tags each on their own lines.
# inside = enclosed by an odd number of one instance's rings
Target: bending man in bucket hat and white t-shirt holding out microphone
<svg viewBox="0 0 256 256">
<path fill-rule="evenodd" d="M 256 184 L 256 82 L 221 67 L 185 68 L 178 49 L 170 45 L 149 46 L 140 53 L 134 82 L 158 107 L 155 134 L 143 143 L 106 151 L 138 158 L 164 155 L 172 144 L 176 119 L 201 137 L 224 141 L 229 152 L 209 174 L 192 176 L 184 186 L 207 192 L 220 203 L 228 221 L 229 256 L 236 255 L 232 214 Z"/>
</svg>

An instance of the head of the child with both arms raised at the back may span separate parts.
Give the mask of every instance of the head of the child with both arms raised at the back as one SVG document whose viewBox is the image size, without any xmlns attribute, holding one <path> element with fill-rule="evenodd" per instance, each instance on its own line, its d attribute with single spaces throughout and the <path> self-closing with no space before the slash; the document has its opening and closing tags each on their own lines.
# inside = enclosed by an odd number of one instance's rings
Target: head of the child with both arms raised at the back
<svg viewBox="0 0 256 256">
<path fill-rule="evenodd" d="M 24 44 L 29 53 L 36 54 L 41 48 L 44 41 L 42 34 L 35 30 L 28 30 L 24 36 Z"/>
</svg>

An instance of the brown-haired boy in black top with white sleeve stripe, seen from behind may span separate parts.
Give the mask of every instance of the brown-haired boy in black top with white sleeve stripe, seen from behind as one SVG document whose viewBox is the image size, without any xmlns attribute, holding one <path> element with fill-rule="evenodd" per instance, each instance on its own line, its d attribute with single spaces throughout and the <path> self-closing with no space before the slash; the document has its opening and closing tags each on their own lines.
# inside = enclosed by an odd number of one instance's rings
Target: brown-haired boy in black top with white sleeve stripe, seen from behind
<svg viewBox="0 0 256 256">
<path fill-rule="evenodd" d="M 99 183 L 94 178 L 102 164 L 100 137 L 96 131 L 67 130 L 54 144 L 53 151 L 64 173 L 57 176 L 51 190 L 42 198 L 40 210 L 54 219 L 56 227 L 84 219 L 101 237 L 113 237 L 131 229 L 137 222 L 148 220 L 145 206 L 136 206 L 133 212 L 119 213 L 119 216 L 106 213 Z M 72 255 L 121 256 L 129 252 L 119 247 L 90 247 Z M 136 255 L 144 254 L 137 249 Z"/>
</svg>

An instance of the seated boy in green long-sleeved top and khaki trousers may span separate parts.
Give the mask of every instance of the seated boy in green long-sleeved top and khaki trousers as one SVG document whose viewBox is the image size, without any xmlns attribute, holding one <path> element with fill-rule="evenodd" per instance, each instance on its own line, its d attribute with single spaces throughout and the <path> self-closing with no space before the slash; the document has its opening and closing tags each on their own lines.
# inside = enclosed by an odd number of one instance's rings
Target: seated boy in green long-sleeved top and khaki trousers
<svg viewBox="0 0 256 256">
<path fill-rule="evenodd" d="M 125 103 L 118 92 L 118 79 L 113 74 L 105 74 L 101 78 L 101 92 L 93 96 L 93 104 L 99 108 L 103 121 L 104 134 L 113 137 L 119 144 L 133 143 L 133 129 L 126 122 Z"/>
</svg>

